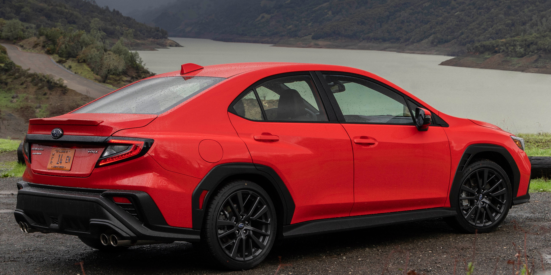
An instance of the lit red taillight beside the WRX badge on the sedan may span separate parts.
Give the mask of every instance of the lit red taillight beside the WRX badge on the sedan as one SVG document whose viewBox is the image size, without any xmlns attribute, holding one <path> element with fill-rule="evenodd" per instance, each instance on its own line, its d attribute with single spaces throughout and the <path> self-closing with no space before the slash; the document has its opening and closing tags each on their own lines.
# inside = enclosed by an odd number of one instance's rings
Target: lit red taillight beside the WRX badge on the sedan
<svg viewBox="0 0 551 275">
<path fill-rule="evenodd" d="M 153 145 L 153 140 L 114 137 L 107 140 L 107 145 L 104 152 L 101 153 L 101 157 L 96 167 L 141 157 L 145 155 L 149 147 Z"/>
</svg>

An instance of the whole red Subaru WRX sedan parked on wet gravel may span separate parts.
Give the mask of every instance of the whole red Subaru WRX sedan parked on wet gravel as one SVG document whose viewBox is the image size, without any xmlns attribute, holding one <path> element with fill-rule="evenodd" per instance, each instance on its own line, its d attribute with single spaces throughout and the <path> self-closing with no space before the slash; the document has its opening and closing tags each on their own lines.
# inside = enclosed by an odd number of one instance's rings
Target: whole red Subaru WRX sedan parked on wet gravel
<svg viewBox="0 0 551 275">
<path fill-rule="evenodd" d="M 241 270 L 276 239 L 442 217 L 489 232 L 530 199 L 523 150 L 363 70 L 188 63 L 31 119 L 15 219 L 99 250 L 190 241 Z"/>
</svg>

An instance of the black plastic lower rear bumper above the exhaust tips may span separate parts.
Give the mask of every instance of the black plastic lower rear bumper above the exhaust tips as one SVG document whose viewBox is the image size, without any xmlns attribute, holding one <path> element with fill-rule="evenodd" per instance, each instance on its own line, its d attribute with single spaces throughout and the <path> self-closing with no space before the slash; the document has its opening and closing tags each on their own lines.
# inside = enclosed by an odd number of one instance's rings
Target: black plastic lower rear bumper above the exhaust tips
<svg viewBox="0 0 551 275">
<path fill-rule="evenodd" d="M 199 240 L 199 230 L 169 226 L 153 199 L 143 191 L 67 188 L 23 181 L 18 188 L 15 220 L 41 232 L 91 238 L 109 232 L 128 240 Z M 111 196 L 127 197 L 135 211 L 124 210 L 109 199 Z"/>
</svg>

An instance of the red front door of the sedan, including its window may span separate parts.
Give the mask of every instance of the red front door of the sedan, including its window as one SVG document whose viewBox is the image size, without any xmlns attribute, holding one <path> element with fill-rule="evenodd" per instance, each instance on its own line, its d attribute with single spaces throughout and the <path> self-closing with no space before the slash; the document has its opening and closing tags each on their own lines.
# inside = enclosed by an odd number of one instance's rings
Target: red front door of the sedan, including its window
<svg viewBox="0 0 551 275">
<path fill-rule="evenodd" d="M 323 80 L 354 151 L 350 216 L 444 206 L 451 165 L 444 129 L 418 131 L 407 98 L 373 80 L 330 74 Z"/>
</svg>

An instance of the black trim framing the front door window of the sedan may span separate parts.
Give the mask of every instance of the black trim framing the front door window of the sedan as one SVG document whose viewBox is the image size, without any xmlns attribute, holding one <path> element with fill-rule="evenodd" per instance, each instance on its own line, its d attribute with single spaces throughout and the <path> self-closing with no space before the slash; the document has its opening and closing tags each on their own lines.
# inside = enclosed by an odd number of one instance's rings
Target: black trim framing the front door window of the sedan
<svg viewBox="0 0 551 275">
<path fill-rule="evenodd" d="M 384 87 L 384 88 L 386 88 L 386 89 L 388 89 L 392 92 L 395 92 L 399 96 L 402 96 L 404 98 L 404 102 L 406 102 L 406 107 L 409 109 L 410 112 L 412 112 L 412 110 L 411 110 L 411 107 L 409 106 L 408 100 L 415 103 L 415 104 L 417 104 L 418 106 L 421 106 L 422 108 L 426 109 L 425 106 L 423 106 L 422 104 L 419 104 L 419 102 L 413 100 L 413 98 L 405 95 L 403 92 L 398 91 L 398 90 L 394 89 L 393 87 L 391 87 L 391 86 L 389 86 L 385 83 L 382 83 L 381 81 L 377 81 L 375 79 L 372 79 L 369 76 L 365 76 L 365 75 L 361 75 L 361 74 L 348 73 L 348 72 L 337 72 L 337 71 L 316 71 L 315 73 L 316 73 L 316 76 L 317 76 L 318 80 L 321 82 L 321 85 L 323 86 L 323 91 L 325 91 L 326 96 L 329 98 L 329 103 L 331 103 L 332 109 L 334 110 L 334 112 L 337 116 L 337 119 L 342 124 L 377 124 L 377 125 L 407 125 L 407 126 L 411 126 L 411 125 L 415 125 L 415 120 L 414 120 L 415 114 L 412 113 L 412 120 L 414 122 L 413 124 L 377 123 L 377 122 L 371 122 L 371 123 L 369 123 L 369 122 L 347 122 L 344 119 L 344 115 L 341 111 L 341 107 L 338 105 L 338 102 L 337 102 L 336 98 L 333 96 L 333 93 L 331 92 L 331 89 L 329 89 L 329 86 L 327 85 L 327 83 L 325 83 L 325 81 L 323 81 L 323 80 L 325 80 L 325 78 L 323 78 L 324 74 L 353 76 L 355 78 L 360 78 L 360 79 L 363 79 L 363 80 L 371 81 L 372 83 L 380 85 L 380 86 L 382 86 L 382 87 Z M 438 117 L 445 124 L 430 124 L 430 126 L 449 127 L 449 125 L 444 121 L 444 119 L 440 118 L 439 116 L 436 116 L 436 114 L 434 114 L 434 113 L 432 115 L 435 116 L 435 117 Z M 433 119 L 433 121 L 434 121 L 434 119 Z"/>
</svg>

